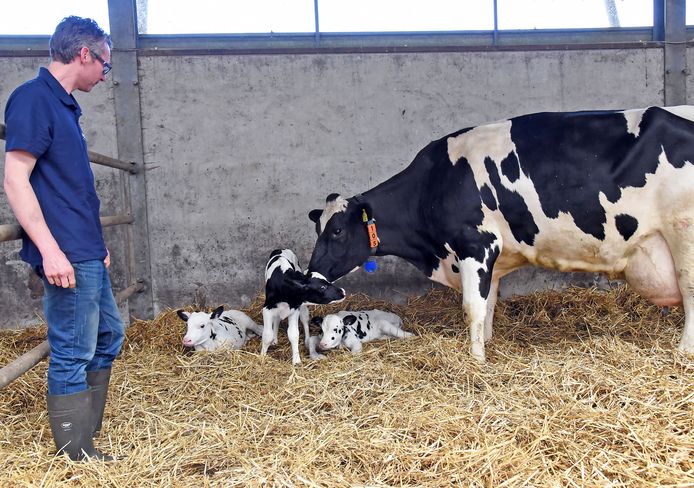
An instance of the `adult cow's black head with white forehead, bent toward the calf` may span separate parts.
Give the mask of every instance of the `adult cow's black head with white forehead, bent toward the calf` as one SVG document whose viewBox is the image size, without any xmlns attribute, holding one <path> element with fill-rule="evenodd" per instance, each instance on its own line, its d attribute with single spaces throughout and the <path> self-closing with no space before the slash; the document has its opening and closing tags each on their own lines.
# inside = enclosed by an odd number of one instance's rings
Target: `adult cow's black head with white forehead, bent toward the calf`
<svg viewBox="0 0 694 488">
<path fill-rule="evenodd" d="M 356 271 L 371 255 L 369 236 L 363 212 L 371 218 L 371 206 L 333 193 L 325 209 L 311 210 L 309 218 L 316 224 L 318 240 L 313 248 L 309 271 L 316 271 L 329 281 Z"/>
</svg>

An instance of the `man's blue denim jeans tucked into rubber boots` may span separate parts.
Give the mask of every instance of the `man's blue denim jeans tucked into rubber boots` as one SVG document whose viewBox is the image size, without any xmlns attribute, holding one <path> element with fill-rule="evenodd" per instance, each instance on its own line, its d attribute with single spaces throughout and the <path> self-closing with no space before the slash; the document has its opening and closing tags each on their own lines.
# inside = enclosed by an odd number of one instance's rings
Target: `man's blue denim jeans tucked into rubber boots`
<svg viewBox="0 0 694 488">
<path fill-rule="evenodd" d="M 48 323 L 51 357 L 48 394 L 68 395 L 88 388 L 87 372 L 111 367 L 120 352 L 125 326 L 103 261 L 72 263 L 75 288 L 43 278 L 43 311 Z"/>
</svg>

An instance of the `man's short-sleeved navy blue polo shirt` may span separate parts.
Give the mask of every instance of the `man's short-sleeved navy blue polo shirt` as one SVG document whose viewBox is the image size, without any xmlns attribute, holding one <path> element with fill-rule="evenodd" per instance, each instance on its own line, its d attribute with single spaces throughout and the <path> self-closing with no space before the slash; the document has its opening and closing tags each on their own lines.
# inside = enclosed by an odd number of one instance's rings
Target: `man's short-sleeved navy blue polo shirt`
<svg viewBox="0 0 694 488">
<path fill-rule="evenodd" d="M 5 107 L 5 151 L 27 151 L 36 158 L 29 181 L 51 234 L 71 263 L 106 258 L 81 115 L 77 100 L 46 68 L 19 86 Z M 32 266 L 42 264 L 24 232 L 22 241 L 21 258 Z"/>
</svg>

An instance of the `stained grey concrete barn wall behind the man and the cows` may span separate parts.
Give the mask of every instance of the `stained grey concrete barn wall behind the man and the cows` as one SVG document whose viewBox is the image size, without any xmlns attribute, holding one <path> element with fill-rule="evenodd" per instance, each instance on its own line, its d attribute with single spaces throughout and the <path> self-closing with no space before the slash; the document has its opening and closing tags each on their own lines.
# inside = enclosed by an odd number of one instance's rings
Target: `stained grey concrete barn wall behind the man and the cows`
<svg viewBox="0 0 694 488">
<path fill-rule="evenodd" d="M 315 241 L 307 213 L 327 194 L 371 188 L 454 130 L 543 110 L 663 103 L 659 49 L 142 56 L 139 63 L 157 311 L 247 304 L 262 289 L 271 250 L 293 248 L 307 264 Z M 36 60 L 0 59 L 3 105 L 35 69 Z M 98 87 L 80 102 L 92 147 L 115 154 L 110 93 Z M 113 177 L 102 178 L 100 191 L 115 205 Z M 0 202 L 0 222 L 7 221 Z M 19 265 L 5 264 L 17 259 L 18 244 L 3 246 L 4 276 Z M 432 286 L 398 259 L 379 259 L 379 268 L 350 275 L 344 286 L 394 300 Z M 12 288 L 23 279 L 15 274 L 2 278 L 10 288 L 0 295 L 10 310 L 5 326 L 25 316 L 15 309 L 37 306 L 22 286 Z M 521 270 L 502 292 L 564 283 L 558 276 Z"/>
</svg>

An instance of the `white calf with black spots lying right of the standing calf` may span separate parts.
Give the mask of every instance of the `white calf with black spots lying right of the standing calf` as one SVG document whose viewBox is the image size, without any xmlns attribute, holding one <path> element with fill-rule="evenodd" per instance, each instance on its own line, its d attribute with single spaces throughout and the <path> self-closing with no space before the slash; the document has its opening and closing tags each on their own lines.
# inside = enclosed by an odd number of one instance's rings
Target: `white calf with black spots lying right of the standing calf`
<svg viewBox="0 0 694 488">
<path fill-rule="evenodd" d="M 320 325 L 322 331 L 320 336 L 311 336 L 309 340 L 308 351 L 313 359 L 325 357 L 318 353 L 318 349 L 327 351 L 344 347 L 356 354 L 364 342 L 388 337 L 405 339 L 414 335 L 402 329 L 400 317 L 382 310 L 343 310 L 325 317 L 314 317 L 311 322 Z"/>
</svg>

